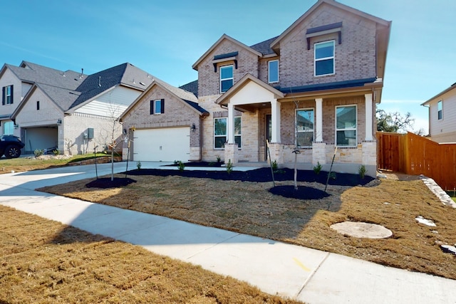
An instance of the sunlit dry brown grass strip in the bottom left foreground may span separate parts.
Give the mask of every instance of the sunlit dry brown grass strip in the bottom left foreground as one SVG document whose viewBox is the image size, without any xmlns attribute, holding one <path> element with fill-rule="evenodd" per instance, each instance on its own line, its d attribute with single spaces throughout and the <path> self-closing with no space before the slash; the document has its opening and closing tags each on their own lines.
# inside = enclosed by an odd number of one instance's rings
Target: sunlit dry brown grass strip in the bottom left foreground
<svg viewBox="0 0 456 304">
<path fill-rule="evenodd" d="M 0 206 L 0 303 L 298 303 Z"/>
</svg>

